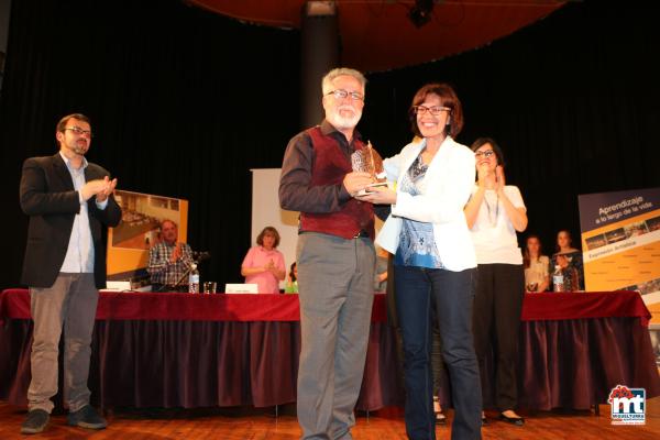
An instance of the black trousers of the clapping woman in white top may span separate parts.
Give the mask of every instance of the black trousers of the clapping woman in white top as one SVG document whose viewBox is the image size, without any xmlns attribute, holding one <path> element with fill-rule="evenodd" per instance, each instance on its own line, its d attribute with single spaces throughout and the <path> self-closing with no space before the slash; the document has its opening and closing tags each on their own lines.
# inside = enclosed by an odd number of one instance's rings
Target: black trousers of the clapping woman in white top
<svg viewBox="0 0 660 440">
<path fill-rule="evenodd" d="M 473 306 L 474 350 L 479 359 L 482 393 L 486 356 L 493 351 L 495 405 L 501 411 L 517 405 L 518 332 L 525 295 L 525 272 L 520 264 L 480 264 Z M 483 395 L 486 400 L 485 393 Z"/>
</svg>

